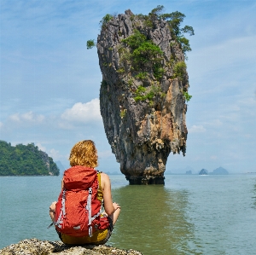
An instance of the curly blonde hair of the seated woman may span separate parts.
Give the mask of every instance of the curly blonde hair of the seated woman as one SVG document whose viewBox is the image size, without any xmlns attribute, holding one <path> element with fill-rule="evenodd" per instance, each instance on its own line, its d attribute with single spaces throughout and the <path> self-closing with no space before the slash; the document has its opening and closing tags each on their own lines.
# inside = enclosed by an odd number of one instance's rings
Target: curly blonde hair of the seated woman
<svg viewBox="0 0 256 255">
<path fill-rule="evenodd" d="M 71 166 L 84 165 L 95 168 L 98 165 L 98 155 L 95 143 L 91 140 L 77 142 L 69 156 Z"/>
</svg>

